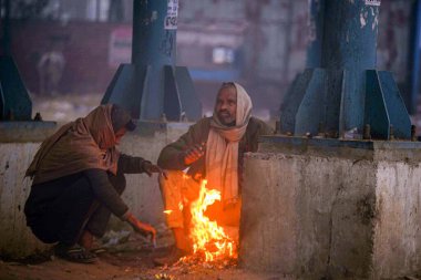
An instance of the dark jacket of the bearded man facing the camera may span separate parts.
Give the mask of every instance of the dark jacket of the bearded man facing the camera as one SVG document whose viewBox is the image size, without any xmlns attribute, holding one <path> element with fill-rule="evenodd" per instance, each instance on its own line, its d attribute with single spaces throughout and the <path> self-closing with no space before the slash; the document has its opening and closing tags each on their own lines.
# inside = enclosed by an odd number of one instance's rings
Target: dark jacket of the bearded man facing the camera
<svg viewBox="0 0 421 280">
<path fill-rule="evenodd" d="M 176 142 L 163 148 L 157 165 L 164 169 L 184 170 L 188 166 L 184 164 L 185 152 L 195 144 L 207 142 L 212 117 L 204 117 L 188 128 Z M 239 142 L 238 147 L 238 174 L 242 175 L 244 153 L 256 152 L 258 137 L 271 135 L 274 131 L 261 120 L 251 117 L 248 122 L 246 133 Z M 206 158 L 203 156 L 189 166 L 187 172 L 194 179 L 206 178 Z"/>
</svg>

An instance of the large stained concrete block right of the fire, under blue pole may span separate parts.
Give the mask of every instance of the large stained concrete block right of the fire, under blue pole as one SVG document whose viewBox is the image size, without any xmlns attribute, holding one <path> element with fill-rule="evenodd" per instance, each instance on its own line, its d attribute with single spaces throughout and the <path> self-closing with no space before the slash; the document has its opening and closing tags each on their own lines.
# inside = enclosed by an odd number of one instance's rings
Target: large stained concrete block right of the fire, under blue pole
<svg viewBox="0 0 421 280">
<path fill-rule="evenodd" d="M 341 156 L 329 148 L 291 153 L 283 147 L 247 155 L 243 267 L 300 279 L 380 279 L 417 271 L 419 158 L 356 152 Z"/>
</svg>

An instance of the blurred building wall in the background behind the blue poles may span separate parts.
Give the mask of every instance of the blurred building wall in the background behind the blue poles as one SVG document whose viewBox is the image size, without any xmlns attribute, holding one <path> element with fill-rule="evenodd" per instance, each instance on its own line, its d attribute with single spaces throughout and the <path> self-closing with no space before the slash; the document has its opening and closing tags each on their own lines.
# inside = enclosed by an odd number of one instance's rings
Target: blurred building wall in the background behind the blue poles
<svg viewBox="0 0 421 280">
<path fill-rule="evenodd" d="M 37 64 L 54 50 L 65 59 L 62 93 L 105 92 L 117 65 L 131 59 L 133 0 L 38 1 L 44 4 L 35 15 L 23 17 L 17 7 L 12 14 L 12 52 L 29 90 L 39 92 Z M 307 4 L 179 0 L 177 64 L 189 68 L 205 112 L 212 111 L 219 83 L 230 80 L 245 84 L 257 110 L 278 110 L 284 92 L 305 68 Z M 378 68 L 396 74 L 403 96 L 409 89 L 412 4 L 382 0 L 380 9 Z"/>
</svg>

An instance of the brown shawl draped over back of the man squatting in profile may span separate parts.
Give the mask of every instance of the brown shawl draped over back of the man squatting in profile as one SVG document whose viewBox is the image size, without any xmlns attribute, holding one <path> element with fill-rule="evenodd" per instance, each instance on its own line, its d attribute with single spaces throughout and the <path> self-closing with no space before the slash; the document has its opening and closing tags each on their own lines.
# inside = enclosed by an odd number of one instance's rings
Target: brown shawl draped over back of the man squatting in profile
<svg viewBox="0 0 421 280">
<path fill-rule="evenodd" d="M 62 126 L 41 144 L 25 176 L 40 184 L 91 168 L 115 174 L 119 152 L 111 110 L 112 104 L 101 105 L 88 116 Z"/>
</svg>

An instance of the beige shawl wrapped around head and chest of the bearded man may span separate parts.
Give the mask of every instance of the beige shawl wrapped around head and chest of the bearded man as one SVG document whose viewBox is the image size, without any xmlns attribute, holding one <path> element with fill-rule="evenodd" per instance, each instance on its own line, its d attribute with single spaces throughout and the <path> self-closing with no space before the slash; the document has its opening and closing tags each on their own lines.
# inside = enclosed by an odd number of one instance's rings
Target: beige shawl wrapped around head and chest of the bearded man
<svg viewBox="0 0 421 280">
<path fill-rule="evenodd" d="M 222 191 L 224 206 L 238 200 L 238 143 L 246 132 L 251 115 L 251 100 L 244 87 L 237 90 L 236 125 L 223 125 L 216 112 L 210 121 L 206 143 L 206 179 L 209 188 Z"/>
</svg>

